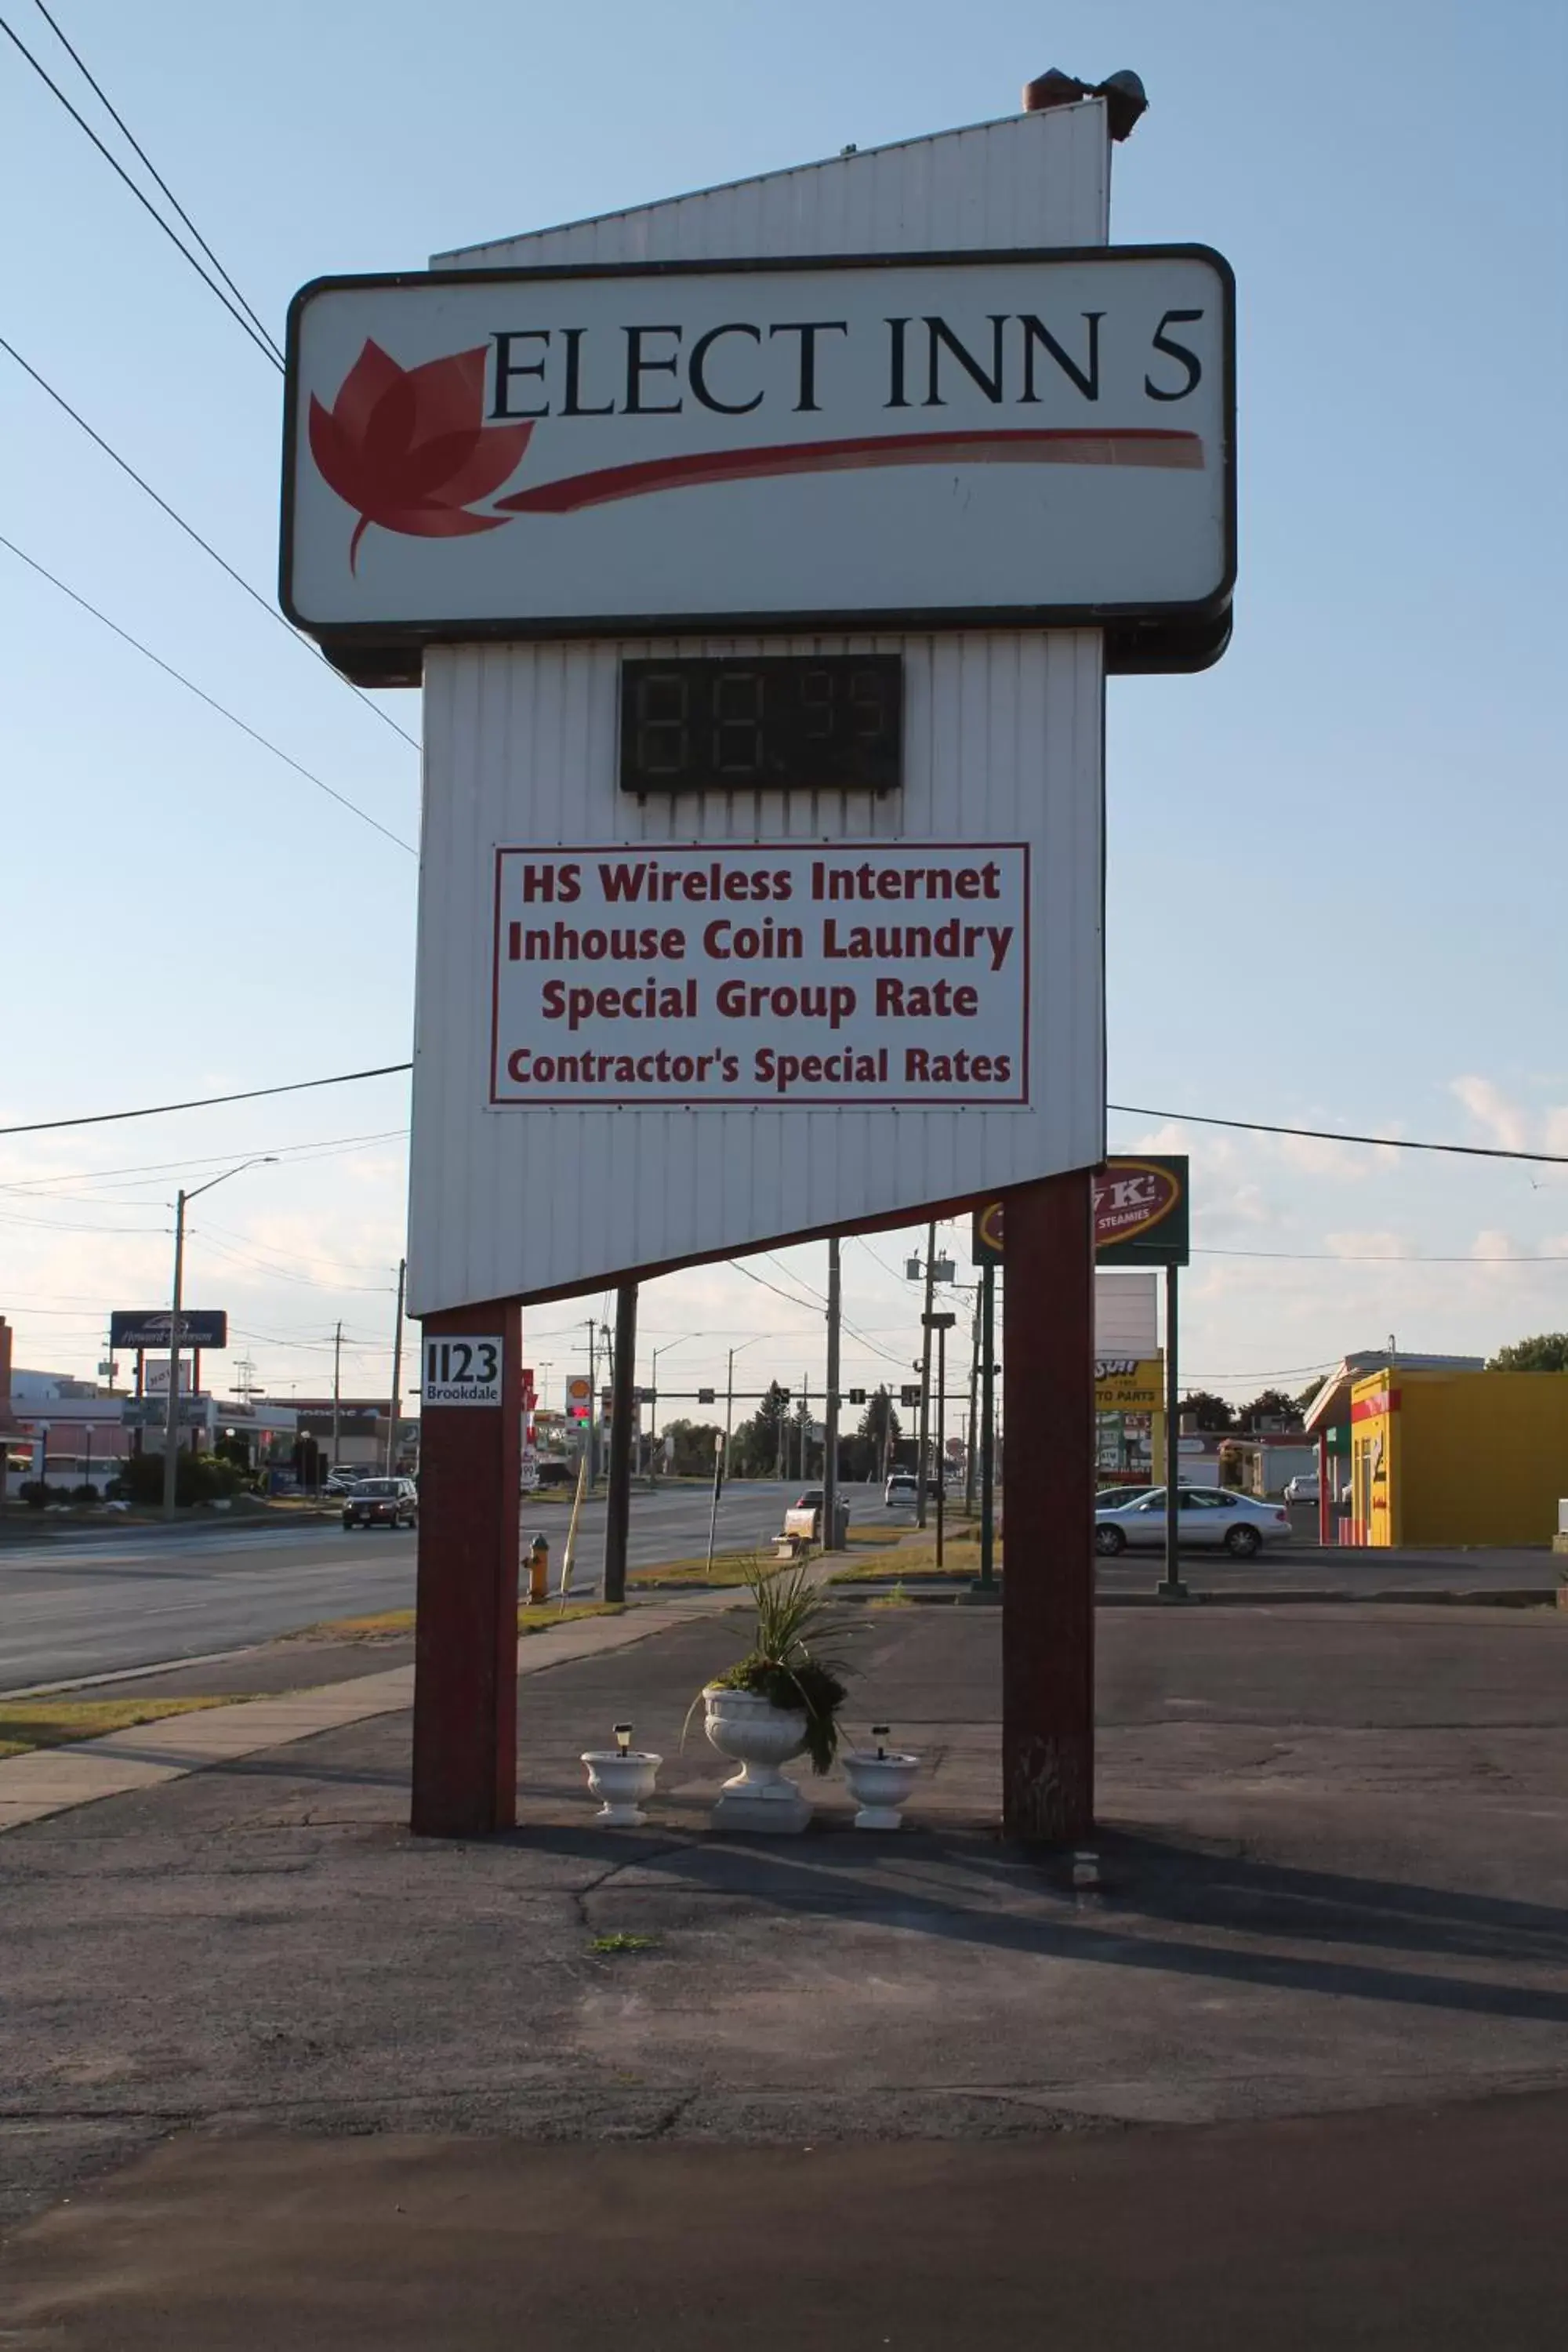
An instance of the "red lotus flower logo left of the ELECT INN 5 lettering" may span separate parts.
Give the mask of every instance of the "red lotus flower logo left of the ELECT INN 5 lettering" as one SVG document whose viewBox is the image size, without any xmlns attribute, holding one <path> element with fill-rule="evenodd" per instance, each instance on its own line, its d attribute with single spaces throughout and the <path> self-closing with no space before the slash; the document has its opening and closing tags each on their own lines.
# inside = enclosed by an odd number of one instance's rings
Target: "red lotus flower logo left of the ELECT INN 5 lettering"
<svg viewBox="0 0 1568 2352">
<path fill-rule="evenodd" d="M 517 470 L 531 430 L 484 423 L 484 343 L 400 367 L 367 341 L 329 409 L 310 395 L 310 454 L 360 517 L 348 569 L 357 569 L 371 522 L 411 539 L 463 539 L 510 522 L 475 515 L 473 501 Z"/>
</svg>

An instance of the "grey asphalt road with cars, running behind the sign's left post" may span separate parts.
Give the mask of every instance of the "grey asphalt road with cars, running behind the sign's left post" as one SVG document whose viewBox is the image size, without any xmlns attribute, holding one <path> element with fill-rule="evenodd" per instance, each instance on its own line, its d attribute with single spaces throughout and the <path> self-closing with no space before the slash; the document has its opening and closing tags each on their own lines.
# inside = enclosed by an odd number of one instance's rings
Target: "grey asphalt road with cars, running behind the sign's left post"
<svg viewBox="0 0 1568 2352">
<path fill-rule="evenodd" d="M 778 1531 L 792 1486 L 738 1482 L 719 1501 L 719 1550 Z M 870 1486 L 849 1489 L 851 1512 L 879 1510 Z M 630 1564 L 656 1566 L 708 1548 L 710 1498 L 698 1486 L 632 1496 Z M 567 1512 L 529 1510 L 552 1559 Z M 0 1691 L 82 1675 L 113 1675 L 165 1658 L 195 1658 L 296 1632 L 317 1618 L 367 1616 L 414 1602 L 418 1538 L 353 1536 L 339 1526 L 233 1526 L 165 1536 L 162 1529 L 42 1538 L 0 1550 Z M 574 1592 L 592 1592 L 604 1569 L 604 1503 L 583 1510 Z M 552 1571 L 555 1576 L 555 1571 Z"/>
</svg>

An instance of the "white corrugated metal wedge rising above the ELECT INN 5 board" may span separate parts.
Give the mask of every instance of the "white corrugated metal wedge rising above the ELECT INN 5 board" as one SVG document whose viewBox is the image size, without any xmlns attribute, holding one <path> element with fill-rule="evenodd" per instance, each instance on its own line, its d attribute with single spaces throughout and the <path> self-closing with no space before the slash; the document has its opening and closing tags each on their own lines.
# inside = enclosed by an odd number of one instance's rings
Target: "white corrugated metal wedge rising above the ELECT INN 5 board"
<svg viewBox="0 0 1568 2352">
<path fill-rule="evenodd" d="M 1103 245 L 1105 106 L 1004 115 L 929 139 L 830 155 L 658 205 L 433 254 L 433 268 L 569 261 L 726 261 L 738 254 L 926 254 Z"/>
</svg>

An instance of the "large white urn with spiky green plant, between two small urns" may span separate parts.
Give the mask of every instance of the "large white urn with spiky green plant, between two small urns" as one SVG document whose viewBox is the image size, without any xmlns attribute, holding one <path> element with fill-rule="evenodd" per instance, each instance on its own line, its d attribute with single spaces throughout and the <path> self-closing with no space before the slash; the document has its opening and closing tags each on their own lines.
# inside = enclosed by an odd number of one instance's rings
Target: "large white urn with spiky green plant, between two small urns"
<svg viewBox="0 0 1568 2352">
<path fill-rule="evenodd" d="M 752 1566 L 745 1583 L 757 1611 L 752 1646 L 698 1691 L 691 1715 L 705 1708 L 710 1743 L 741 1766 L 719 1790 L 715 1828 L 790 1835 L 811 1820 L 811 1802 L 778 1766 L 806 1755 L 811 1771 L 832 1771 L 844 1670 L 820 1651 L 830 1604 L 804 1566 L 773 1576 Z"/>
</svg>

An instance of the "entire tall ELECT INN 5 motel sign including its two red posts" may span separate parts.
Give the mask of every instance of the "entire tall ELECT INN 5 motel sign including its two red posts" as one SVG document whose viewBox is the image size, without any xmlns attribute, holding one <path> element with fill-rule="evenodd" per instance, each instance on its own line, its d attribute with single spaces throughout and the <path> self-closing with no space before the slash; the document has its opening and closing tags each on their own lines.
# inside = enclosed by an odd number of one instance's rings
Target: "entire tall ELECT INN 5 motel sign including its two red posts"
<svg viewBox="0 0 1568 2352">
<path fill-rule="evenodd" d="M 294 301 L 284 609 L 425 694 L 409 1298 L 501 1364 L 418 1830 L 512 1820 L 522 1305 L 997 1190 L 1084 1435 L 1009 1451 L 1004 1811 L 1091 1818 L 1103 687 L 1234 576 L 1229 270 L 1107 202 L 1091 99 Z"/>
</svg>

